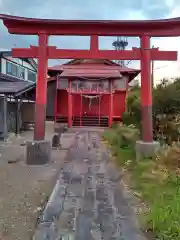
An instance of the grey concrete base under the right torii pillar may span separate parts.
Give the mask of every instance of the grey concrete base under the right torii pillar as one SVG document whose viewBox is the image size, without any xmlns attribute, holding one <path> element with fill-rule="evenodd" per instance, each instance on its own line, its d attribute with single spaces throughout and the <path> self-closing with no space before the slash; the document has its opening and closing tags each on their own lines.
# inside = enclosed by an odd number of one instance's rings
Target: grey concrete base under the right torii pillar
<svg viewBox="0 0 180 240">
<path fill-rule="evenodd" d="M 159 142 L 136 142 L 136 159 L 153 157 L 160 149 Z"/>
</svg>

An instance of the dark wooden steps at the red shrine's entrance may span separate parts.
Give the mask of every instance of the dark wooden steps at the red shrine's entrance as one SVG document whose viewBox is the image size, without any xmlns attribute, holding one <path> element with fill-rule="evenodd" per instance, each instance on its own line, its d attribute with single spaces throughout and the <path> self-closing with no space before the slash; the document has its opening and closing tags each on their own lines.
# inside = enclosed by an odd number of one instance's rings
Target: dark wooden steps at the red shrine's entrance
<svg viewBox="0 0 180 240">
<path fill-rule="evenodd" d="M 98 126 L 108 127 L 108 117 L 82 116 L 73 118 L 73 126 Z"/>
</svg>

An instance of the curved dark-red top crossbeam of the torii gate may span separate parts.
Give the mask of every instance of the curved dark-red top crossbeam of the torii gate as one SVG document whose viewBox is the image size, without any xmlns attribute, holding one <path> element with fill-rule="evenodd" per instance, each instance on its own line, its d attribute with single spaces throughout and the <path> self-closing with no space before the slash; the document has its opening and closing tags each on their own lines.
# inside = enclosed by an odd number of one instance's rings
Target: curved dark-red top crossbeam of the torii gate
<svg viewBox="0 0 180 240">
<path fill-rule="evenodd" d="M 89 36 L 180 36 L 180 17 L 162 20 L 56 20 L 0 14 L 9 33 Z"/>
</svg>

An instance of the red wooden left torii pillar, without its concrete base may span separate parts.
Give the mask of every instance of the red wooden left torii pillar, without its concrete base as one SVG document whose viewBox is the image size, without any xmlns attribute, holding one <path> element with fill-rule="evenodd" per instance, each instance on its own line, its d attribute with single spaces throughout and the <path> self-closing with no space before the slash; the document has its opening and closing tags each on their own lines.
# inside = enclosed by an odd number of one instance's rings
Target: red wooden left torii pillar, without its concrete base
<svg viewBox="0 0 180 240">
<path fill-rule="evenodd" d="M 36 84 L 36 107 L 34 140 L 44 140 L 46 121 L 46 99 L 47 99 L 47 44 L 48 36 L 39 35 L 38 48 L 38 75 Z"/>
</svg>

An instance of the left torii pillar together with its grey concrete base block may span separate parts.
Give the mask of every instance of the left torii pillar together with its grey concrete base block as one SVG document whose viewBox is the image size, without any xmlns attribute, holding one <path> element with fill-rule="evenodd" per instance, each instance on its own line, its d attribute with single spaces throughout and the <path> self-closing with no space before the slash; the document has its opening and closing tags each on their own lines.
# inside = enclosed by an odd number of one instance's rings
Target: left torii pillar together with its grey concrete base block
<svg viewBox="0 0 180 240">
<path fill-rule="evenodd" d="M 27 164 L 46 164 L 51 160 L 51 142 L 45 140 L 48 36 L 39 34 L 34 141 L 27 142 Z"/>
</svg>

